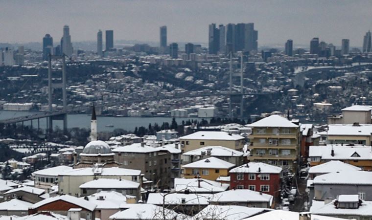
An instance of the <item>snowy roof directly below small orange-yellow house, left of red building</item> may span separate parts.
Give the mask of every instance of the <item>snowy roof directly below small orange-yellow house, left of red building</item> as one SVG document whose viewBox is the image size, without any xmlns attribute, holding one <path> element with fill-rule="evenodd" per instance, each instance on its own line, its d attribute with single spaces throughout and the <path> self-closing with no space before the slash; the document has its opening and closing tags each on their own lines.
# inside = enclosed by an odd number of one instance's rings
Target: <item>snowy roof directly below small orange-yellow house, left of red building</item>
<svg viewBox="0 0 372 220">
<path fill-rule="evenodd" d="M 200 187 L 197 178 L 175 178 L 174 188 L 176 192 L 189 190 L 194 193 L 219 193 L 226 191 L 230 184 L 219 183 L 208 179 L 200 179 Z"/>
</svg>

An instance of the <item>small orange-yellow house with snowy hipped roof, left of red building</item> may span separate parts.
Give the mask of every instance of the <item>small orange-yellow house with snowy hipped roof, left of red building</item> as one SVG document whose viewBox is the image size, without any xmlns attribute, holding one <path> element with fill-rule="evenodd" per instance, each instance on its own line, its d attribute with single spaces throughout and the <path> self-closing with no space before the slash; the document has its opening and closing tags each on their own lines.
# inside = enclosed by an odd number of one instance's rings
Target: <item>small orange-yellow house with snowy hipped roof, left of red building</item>
<svg viewBox="0 0 372 220">
<path fill-rule="evenodd" d="M 216 180 L 219 176 L 229 176 L 229 170 L 233 167 L 235 164 L 211 156 L 186 164 L 182 168 L 185 178 L 200 176 L 203 179 Z"/>
</svg>

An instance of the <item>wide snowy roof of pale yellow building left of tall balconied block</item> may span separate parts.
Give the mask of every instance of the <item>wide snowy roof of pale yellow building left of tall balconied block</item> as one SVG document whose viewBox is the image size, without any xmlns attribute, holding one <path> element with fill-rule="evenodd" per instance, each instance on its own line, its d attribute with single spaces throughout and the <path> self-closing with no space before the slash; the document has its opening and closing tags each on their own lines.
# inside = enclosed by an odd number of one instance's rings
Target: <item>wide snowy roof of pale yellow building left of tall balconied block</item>
<svg viewBox="0 0 372 220">
<path fill-rule="evenodd" d="M 195 132 L 180 137 L 180 140 L 241 140 L 243 136 L 238 134 L 229 134 L 228 132 Z"/>
</svg>

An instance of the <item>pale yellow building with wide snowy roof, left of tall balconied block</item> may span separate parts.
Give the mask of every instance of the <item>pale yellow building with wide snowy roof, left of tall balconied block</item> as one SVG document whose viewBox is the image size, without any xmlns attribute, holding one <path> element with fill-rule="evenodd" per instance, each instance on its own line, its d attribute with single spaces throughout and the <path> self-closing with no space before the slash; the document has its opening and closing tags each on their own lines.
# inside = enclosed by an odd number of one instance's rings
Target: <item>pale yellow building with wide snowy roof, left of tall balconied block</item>
<svg viewBox="0 0 372 220">
<path fill-rule="evenodd" d="M 228 132 L 195 132 L 179 138 L 182 153 L 206 146 L 223 146 L 233 150 L 240 150 L 244 146 L 244 137 Z"/>
</svg>

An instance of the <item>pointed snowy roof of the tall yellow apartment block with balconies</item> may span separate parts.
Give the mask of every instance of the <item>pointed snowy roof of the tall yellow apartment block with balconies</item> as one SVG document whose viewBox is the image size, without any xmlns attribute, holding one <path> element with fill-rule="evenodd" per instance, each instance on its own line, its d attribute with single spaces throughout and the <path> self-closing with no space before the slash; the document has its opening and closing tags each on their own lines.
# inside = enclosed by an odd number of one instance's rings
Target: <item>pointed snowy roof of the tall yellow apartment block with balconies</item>
<svg viewBox="0 0 372 220">
<path fill-rule="evenodd" d="M 262 118 L 261 120 L 258 120 L 252 124 L 246 125 L 248 127 L 270 127 L 270 128 L 298 128 L 299 126 L 292 123 L 288 119 L 277 115 L 273 114 L 270 115 L 269 117 Z"/>
</svg>

